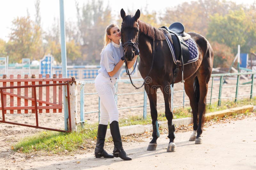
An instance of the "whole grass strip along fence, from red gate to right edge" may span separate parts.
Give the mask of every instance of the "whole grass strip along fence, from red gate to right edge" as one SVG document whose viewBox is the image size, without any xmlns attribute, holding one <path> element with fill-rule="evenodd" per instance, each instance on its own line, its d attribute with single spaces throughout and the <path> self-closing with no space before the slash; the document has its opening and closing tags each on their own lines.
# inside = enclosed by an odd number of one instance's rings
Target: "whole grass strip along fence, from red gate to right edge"
<svg viewBox="0 0 256 170">
<path fill-rule="evenodd" d="M 244 106 L 244 105 L 256 105 L 256 97 L 248 101 L 248 99 L 239 100 L 237 103 L 230 101 L 222 101 L 220 107 L 218 107 L 217 102 L 207 105 L 206 112 L 214 112 L 218 110 L 225 110 L 229 108 Z M 248 113 L 246 113 L 248 114 Z M 234 117 L 237 115 L 233 115 Z M 174 118 L 191 117 L 191 108 L 176 108 L 173 111 Z M 166 121 L 165 114 L 158 114 L 159 121 Z M 142 116 L 132 116 L 125 119 L 120 119 L 120 126 L 128 126 L 134 124 L 151 124 L 151 117 L 148 115 L 147 119 L 144 120 Z M 94 124 L 84 124 L 84 129 L 78 127 L 77 132 L 62 133 L 54 131 L 43 131 L 39 132 L 34 136 L 23 138 L 14 146 L 14 150 L 19 150 L 23 147 L 24 153 L 30 153 L 33 151 L 43 151 L 49 154 L 60 153 L 65 150 L 68 153 L 75 153 L 78 149 L 82 147 L 94 147 L 91 145 L 91 141 L 96 141 L 98 123 Z M 90 146 L 91 145 L 91 146 Z M 82 147 L 81 147 L 82 146 Z"/>
</svg>

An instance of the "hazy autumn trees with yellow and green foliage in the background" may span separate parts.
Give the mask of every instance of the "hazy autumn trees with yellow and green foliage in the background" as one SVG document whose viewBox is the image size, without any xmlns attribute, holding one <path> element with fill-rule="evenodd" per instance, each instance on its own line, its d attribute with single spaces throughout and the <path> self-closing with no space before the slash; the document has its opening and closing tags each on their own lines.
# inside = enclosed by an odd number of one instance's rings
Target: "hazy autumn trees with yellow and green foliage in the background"
<svg viewBox="0 0 256 170">
<path fill-rule="evenodd" d="M 76 1 L 77 21 L 66 21 L 66 46 L 68 65 L 99 64 L 105 28 L 111 23 L 121 25 L 120 13 L 112 13 L 111 6 L 103 0 Z M 43 30 L 40 17 L 40 0 L 35 1 L 36 19 L 30 16 L 14 18 L 9 41 L 0 39 L 0 56 L 9 56 L 9 62 L 22 58 L 42 59 L 50 53 L 61 62 L 59 19 L 49 30 Z M 137 8 L 136 8 L 137 10 Z M 134 14 L 136 10 L 128 10 Z M 114 11 L 119 11 L 115 9 Z M 256 3 L 236 4 L 222 0 L 197 0 L 184 2 L 162 11 L 140 9 L 140 20 L 156 28 L 181 22 L 185 32 L 197 32 L 208 39 L 214 50 L 214 67 L 230 67 L 237 53 L 256 52 Z"/>
</svg>

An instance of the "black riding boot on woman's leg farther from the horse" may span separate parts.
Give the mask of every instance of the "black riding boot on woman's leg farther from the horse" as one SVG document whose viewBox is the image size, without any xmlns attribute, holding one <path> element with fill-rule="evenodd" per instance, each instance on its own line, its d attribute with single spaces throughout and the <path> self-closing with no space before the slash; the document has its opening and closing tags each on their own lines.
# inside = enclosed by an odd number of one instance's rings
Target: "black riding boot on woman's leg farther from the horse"
<svg viewBox="0 0 256 170">
<path fill-rule="evenodd" d="M 104 158 L 114 158 L 113 155 L 108 154 L 104 149 L 104 142 L 106 137 L 108 125 L 99 124 L 98 132 L 97 132 L 97 143 L 94 150 L 94 155 L 96 158 L 104 157 Z"/>
</svg>

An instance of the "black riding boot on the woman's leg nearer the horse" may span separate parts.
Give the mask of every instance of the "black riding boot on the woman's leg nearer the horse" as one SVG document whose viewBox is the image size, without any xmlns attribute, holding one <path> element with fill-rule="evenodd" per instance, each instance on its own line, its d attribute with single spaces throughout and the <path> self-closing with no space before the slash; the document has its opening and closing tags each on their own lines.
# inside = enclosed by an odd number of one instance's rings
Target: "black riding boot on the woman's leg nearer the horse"
<svg viewBox="0 0 256 170">
<path fill-rule="evenodd" d="M 119 124 L 117 121 L 113 121 L 110 124 L 110 132 L 114 141 L 114 150 L 113 155 L 114 157 L 119 157 L 124 160 L 132 160 L 131 157 L 127 156 L 123 149 L 122 140 L 121 140 L 121 134 L 119 131 Z"/>
</svg>

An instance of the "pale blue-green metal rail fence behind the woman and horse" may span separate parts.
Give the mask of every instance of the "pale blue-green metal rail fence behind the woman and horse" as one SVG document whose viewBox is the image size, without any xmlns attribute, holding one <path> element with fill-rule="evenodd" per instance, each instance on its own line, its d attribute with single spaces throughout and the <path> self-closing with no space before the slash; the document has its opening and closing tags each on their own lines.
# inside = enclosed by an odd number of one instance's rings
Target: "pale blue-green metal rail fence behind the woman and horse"
<svg viewBox="0 0 256 170">
<path fill-rule="evenodd" d="M 218 98 L 218 106 L 220 106 L 221 104 L 221 99 L 227 99 L 227 98 L 235 98 L 235 102 L 237 102 L 238 97 L 243 97 L 243 96 L 250 96 L 250 99 L 252 99 L 252 95 L 253 95 L 253 84 L 254 84 L 254 74 L 256 74 L 256 72 L 247 72 L 247 73 L 227 73 L 227 74 L 212 74 L 212 84 L 211 87 L 208 88 L 208 90 L 211 90 L 210 92 L 210 102 L 207 102 L 209 104 L 212 103 L 212 99 L 217 99 Z M 247 82 L 247 85 L 239 85 L 239 80 L 240 80 L 240 75 L 252 75 L 252 79 L 250 82 Z M 223 80 L 225 77 L 227 76 L 237 76 L 236 78 L 236 85 L 233 86 L 223 86 Z M 213 83 L 213 78 L 214 77 L 220 77 L 220 83 Z M 134 82 L 143 82 L 143 79 L 133 79 L 132 81 Z M 91 112 L 84 112 L 84 95 L 95 95 L 97 93 L 84 93 L 84 86 L 86 84 L 94 84 L 94 81 L 77 81 L 78 84 L 80 84 L 80 114 L 81 114 L 81 126 L 83 127 L 83 122 L 84 121 L 84 114 L 89 114 L 89 113 L 97 113 L 99 114 L 99 118 L 100 118 L 100 104 L 99 104 L 99 110 L 96 111 L 91 111 Z M 123 96 L 123 95 L 133 95 L 133 94 L 144 94 L 144 104 L 141 106 L 131 106 L 131 107 L 123 107 L 123 108 L 118 108 L 118 110 L 122 110 L 122 109 L 128 109 L 128 108 L 138 108 L 138 107 L 143 107 L 143 118 L 146 119 L 147 117 L 147 107 L 149 105 L 147 105 L 147 93 L 144 89 L 144 92 L 135 92 L 135 93 L 124 93 L 124 94 L 117 94 L 117 89 L 118 89 L 118 83 L 119 82 L 130 82 L 129 79 L 125 79 L 125 80 L 117 80 L 116 84 L 115 84 L 115 89 L 116 89 L 116 94 L 115 94 L 115 99 L 116 99 L 116 103 L 117 103 L 117 98 L 118 96 Z M 248 84 L 250 83 L 250 84 Z M 219 94 L 216 97 L 212 96 L 212 88 L 215 85 L 219 85 Z M 238 96 L 238 89 L 239 87 L 246 87 L 246 86 L 251 86 L 251 92 L 250 94 L 244 94 L 244 95 L 240 95 Z M 236 87 L 236 95 L 235 96 L 227 96 L 227 97 L 221 97 L 221 92 L 223 88 L 234 88 Z M 159 93 L 161 91 L 157 91 L 157 93 Z M 183 104 L 182 105 L 178 105 L 178 106 L 173 106 L 173 94 L 174 93 L 181 93 L 183 92 Z M 208 92 L 209 93 L 209 92 Z M 185 100 L 185 90 L 184 90 L 184 84 L 183 84 L 183 90 L 179 90 L 179 91 L 174 91 L 172 86 L 171 86 L 171 108 L 178 108 L 178 107 L 184 107 L 184 103 L 185 102 L 189 102 L 189 100 Z M 100 98 L 99 98 L 99 103 L 100 103 Z M 164 105 L 164 103 L 160 103 L 157 105 Z"/>
</svg>

